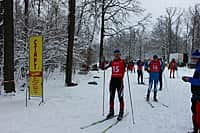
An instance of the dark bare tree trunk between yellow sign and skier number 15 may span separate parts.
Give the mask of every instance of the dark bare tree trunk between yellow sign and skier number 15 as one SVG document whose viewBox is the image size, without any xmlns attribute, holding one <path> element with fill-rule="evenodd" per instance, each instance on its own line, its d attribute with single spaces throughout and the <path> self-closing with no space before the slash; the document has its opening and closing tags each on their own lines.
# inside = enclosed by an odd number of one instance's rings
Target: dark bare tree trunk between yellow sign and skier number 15
<svg viewBox="0 0 200 133">
<path fill-rule="evenodd" d="M 67 63 L 65 84 L 68 86 L 72 83 L 72 64 L 73 64 L 73 46 L 75 33 L 75 7 L 76 0 L 69 0 L 68 14 L 68 48 L 67 48 Z"/>
</svg>

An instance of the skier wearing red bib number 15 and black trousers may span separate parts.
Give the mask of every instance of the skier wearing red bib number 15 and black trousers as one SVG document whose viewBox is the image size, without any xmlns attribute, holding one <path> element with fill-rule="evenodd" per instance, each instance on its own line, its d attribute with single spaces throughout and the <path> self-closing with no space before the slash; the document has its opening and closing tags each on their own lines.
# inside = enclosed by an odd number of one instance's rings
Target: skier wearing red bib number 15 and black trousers
<svg viewBox="0 0 200 133">
<path fill-rule="evenodd" d="M 109 67 L 112 67 L 112 74 L 111 74 L 111 80 L 110 80 L 110 104 L 109 104 L 109 114 L 107 115 L 107 119 L 110 119 L 114 117 L 114 99 L 115 99 L 115 92 L 117 90 L 118 92 L 118 99 L 120 103 L 120 109 L 119 109 L 119 115 L 117 120 L 121 120 L 123 118 L 124 114 L 124 85 L 123 85 L 123 78 L 125 73 L 125 61 L 121 59 L 120 50 L 116 49 L 114 50 L 114 59 L 111 61 L 111 63 L 106 66 L 104 69 L 107 69 Z"/>
</svg>

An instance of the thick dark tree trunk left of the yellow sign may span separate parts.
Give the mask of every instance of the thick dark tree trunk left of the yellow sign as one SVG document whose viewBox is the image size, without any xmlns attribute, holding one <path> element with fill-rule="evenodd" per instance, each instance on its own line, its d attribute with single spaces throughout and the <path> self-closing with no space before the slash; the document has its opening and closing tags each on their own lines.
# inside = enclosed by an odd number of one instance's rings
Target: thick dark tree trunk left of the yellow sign
<svg viewBox="0 0 200 133">
<path fill-rule="evenodd" d="M 13 0 L 4 0 L 4 90 L 15 92 Z"/>
</svg>

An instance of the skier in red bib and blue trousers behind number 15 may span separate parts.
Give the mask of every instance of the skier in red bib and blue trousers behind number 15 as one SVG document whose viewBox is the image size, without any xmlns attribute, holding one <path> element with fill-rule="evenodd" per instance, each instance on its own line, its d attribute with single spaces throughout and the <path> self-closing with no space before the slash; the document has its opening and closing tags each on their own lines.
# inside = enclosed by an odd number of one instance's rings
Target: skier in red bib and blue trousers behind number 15
<svg viewBox="0 0 200 133">
<path fill-rule="evenodd" d="M 147 90 L 147 97 L 146 100 L 149 101 L 150 92 L 152 89 L 152 86 L 154 84 L 154 101 L 157 100 L 157 85 L 158 85 L 158 79 L 159 79 L 159 72 L 161 69 L 161 63 L 158 59 L 157 55 L 153 56 L 153 60 L 151 60 L 148 64 L 148 72 L 149 72 L 149 88 Z"/>
</svg>

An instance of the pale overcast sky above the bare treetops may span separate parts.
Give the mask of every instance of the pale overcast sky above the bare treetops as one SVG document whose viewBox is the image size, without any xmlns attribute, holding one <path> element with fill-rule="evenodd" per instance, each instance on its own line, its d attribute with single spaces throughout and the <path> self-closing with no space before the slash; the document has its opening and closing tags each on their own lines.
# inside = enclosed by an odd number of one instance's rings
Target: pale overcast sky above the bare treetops
<svg viewBox="0 0 200 133">
<path fill-rule="evenodd" d="M 153 18 L 157 18 L 160 15 L 165 14 L 165 8 L 167 7 L 179 7 L 188 9 L 190 6 L 194 6 L 200 3 L 200 0 L 138 0 L 141 2 L 141 6 L 152 13 Z"/>
</svg>

